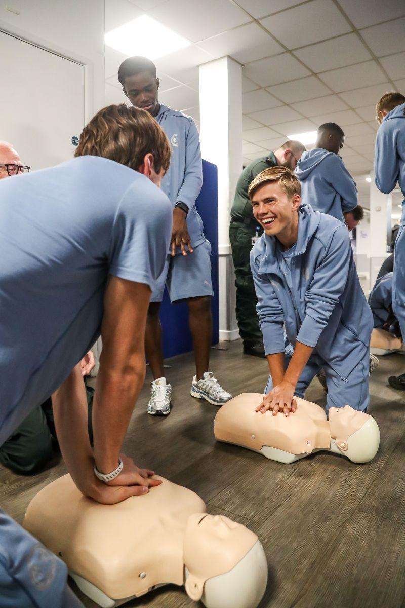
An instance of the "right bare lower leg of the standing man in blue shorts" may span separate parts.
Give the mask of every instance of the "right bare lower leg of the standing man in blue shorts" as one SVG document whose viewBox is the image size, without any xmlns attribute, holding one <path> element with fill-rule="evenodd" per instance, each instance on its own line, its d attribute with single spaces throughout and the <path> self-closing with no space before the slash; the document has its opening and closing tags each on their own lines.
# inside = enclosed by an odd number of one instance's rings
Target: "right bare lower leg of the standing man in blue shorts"
<svg viewBox="0 0 405 608">
<path fill-rule="evenodd" d="M 213 316 L 211 314 L 211 296 L 203 295 L 190 298 L 188 304 L 188 322 L 196 359 L 197 381 L 209 369 L 209 348 L 213 334 Z"/>
</svg>

